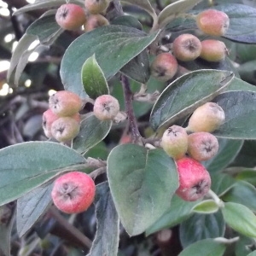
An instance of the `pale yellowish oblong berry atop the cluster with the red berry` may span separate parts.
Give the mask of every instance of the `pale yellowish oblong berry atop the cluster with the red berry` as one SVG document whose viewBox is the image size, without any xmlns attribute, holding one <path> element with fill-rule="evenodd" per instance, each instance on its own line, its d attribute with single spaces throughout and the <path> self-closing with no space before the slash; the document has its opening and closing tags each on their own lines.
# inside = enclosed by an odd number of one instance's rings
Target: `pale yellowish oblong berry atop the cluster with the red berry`
<svg viewBox="0 0 256 256">
<path fill-rule="evenodd" d="M 207 102 L 192 113 L 187 131 L 212 132 L 224 123 L 224 119 L 224 110 L 217 103 Z"/>
</svg>

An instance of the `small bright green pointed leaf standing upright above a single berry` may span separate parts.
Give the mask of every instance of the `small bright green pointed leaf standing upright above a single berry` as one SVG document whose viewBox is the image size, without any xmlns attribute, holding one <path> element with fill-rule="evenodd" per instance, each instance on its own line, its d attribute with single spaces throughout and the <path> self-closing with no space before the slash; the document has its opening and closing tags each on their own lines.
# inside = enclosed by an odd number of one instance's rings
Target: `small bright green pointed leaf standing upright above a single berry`
<svg viewBox="0 0 256 256">
<path fill-rule="evenodd" d="M 85 93 L 93 99 L 109 94 L 108 82 L 104 77 L 102 68 L 96 61 L 95 55 L 88 58 L 82 67 L 82 82 Z"/>
</svg>

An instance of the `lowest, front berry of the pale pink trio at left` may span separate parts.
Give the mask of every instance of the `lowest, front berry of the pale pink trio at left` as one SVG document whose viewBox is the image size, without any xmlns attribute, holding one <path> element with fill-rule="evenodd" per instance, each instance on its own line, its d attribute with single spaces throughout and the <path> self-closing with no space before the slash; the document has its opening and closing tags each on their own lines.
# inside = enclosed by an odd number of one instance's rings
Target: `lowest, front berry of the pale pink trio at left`
<svg viewBox="0 0 256 256">
<path fill-rule="evenodd" d="M 72 117 L 61 117 L 51 125 L 51 134 L 58 142 L 66 143 L 79 134 L 79 122 Z"/>
</svg>

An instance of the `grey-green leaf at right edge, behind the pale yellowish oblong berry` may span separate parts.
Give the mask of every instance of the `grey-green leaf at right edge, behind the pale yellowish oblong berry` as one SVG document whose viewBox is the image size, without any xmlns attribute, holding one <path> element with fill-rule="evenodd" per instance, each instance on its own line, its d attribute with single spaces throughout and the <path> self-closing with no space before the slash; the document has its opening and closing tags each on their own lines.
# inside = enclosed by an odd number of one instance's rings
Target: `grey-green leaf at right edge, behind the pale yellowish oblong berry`
<svg viewBox="0 0 256 256">
<path fill-rule="evenodd" d="M 217 96 L 213 102 L 224 109 L 225 121 L 213 134 L 233 139 L 256 139 L 256 93 L 230 91 Z"/>
</svg>

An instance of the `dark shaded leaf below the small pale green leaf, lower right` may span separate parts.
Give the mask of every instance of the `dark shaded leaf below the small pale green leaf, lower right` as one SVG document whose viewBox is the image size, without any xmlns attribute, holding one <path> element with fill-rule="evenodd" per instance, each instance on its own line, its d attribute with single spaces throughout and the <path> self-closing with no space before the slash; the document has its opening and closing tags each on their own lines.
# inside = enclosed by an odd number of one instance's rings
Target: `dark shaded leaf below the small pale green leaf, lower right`
<svg viewBox="0 0 256 256">
<path fill-rule="evenodd" d="M 197 214 L 180 224 L 179 237 L 183 247 L 206 238 L 224 236 L 225 224 L 221 212 Z M 193 255 L 193 254 L 191 254 Z M 198 253 L 197 255 L 208 255 Z"/>
</svg>

